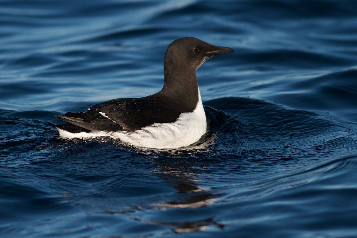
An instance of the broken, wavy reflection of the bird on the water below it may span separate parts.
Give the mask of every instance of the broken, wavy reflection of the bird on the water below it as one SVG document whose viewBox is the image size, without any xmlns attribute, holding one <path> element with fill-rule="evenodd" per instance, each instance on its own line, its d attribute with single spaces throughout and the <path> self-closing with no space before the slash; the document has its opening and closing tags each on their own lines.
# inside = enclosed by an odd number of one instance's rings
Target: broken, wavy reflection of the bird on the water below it
<svg viewBox="0 0 357 238">
<path fill-rule="evenodd" d="M 155 209 L 175 209 L 175 208 L 200 208 L 211 205 L 224 194 L 214 194 L 211 190 L 200 188 L 196 185 L 199 180 L 199 173 L 197 170 L 202 170 L 203 165 L 197 167 L 191 165 L 189 161 L 177 161 L 156 159 L 155 162 L 160 165 L 160 169 L 152 171 L 158 177 L 165 180 L 170 186 L 178 190 L 175 196 L 169 197 L 167 202 L 151 203 Z M 195 172 L 197 171 L 197 172 Z M 165 199 L 167 200 L 167 198 Z M 188 218 L 189 219 L 189 218 Z M 202 219 L 199 221 L 184 221 L 184 222 L 161 222 L 149 221 L 140 218 L 135 220 L 146 223 L 156 224 L 161 226 L 175 227 L 172 231 L 175 233 L 191 233 L 203 231 L 208 227 L 214 225 L 222 229 L 223 224 L 216 222 L 212 217 Z"/>
</svg>

